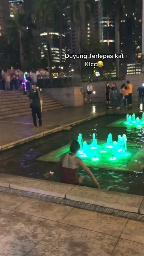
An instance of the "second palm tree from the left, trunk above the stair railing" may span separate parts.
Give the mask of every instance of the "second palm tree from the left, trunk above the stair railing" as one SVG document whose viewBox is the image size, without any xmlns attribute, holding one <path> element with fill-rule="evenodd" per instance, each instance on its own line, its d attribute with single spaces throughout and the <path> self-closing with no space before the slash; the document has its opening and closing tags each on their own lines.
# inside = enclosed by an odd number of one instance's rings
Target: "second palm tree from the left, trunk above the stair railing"
<svg viewBox="0 0 144 256">
<path fill-rule="evenodd" d="M 47 34 L 47 59 L 48 69 L 51 74 L 52 71 L 52 58 L 51 58 L 51 44 L 50 35 L 51 30 L 55 30 L 59 24 L 59 16 L 63 9 L 63 1 L 61 0 L 36 0 L 35 3 L 35 18 L 39 28 L 46 29 Z M 53 27 L 51 26 L 53 16 Z"/>
</svg>

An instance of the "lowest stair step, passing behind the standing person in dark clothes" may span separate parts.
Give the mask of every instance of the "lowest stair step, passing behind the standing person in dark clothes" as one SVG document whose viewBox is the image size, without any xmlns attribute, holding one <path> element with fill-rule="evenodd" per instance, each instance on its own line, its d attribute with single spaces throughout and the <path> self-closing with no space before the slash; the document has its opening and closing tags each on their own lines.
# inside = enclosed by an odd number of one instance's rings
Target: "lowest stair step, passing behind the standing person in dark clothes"
<svg viewBox="0 0 144 256">
<path fill-rule="evenodd" d="M 63 106 L 53 106 L 53 107 L 50 107 L 50 108 L 46 108 L 46 109 L 43 109 L 42 112 L 47 112 L 47 111 L 50 111 L 50 110 L 54 110 L 54 109 L 60 109 L 60 108 L 63 108 Z M 26 115 L 31 115 L 31 109 L 29 108 L 28 111 L 24 111 L 24 112 L 20 112 L 20 113 L 13 113 L 13 114 L 4 114 L 4 115 L 0 115 L 0 120 L 4 120 L 4 119 L 7 119 L 7 118 L 11 118 L 11 117 L 18 117 L 18 116 L 26 116 Z"/>
</svg>

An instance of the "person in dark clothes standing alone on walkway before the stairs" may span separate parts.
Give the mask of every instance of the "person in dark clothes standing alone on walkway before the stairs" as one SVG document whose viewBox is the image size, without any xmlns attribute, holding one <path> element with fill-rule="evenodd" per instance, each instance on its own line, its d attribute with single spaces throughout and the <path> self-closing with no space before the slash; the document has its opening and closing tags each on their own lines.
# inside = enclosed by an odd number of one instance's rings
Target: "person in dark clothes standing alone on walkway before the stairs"
<svg viewBox="0 0 144 256">
<path fill-rule="evenodd" d="M 42 97 L 40 95 L 39 89 L 36 88 L 36 85 L 32 85 L 32 90 L 29 94 L 29 99 L 32 100 L 30 104 L 30 108 L 32 109 L 32 118 L 33 118 L 33 123 L 34 127 L 37 127 L 37 121 L 36 121 L 36 115 L 38 116 L 39 119 L 39 127 L 42 126 L 42 115 L 41 115 L 41 100 Z"/>
</svg>

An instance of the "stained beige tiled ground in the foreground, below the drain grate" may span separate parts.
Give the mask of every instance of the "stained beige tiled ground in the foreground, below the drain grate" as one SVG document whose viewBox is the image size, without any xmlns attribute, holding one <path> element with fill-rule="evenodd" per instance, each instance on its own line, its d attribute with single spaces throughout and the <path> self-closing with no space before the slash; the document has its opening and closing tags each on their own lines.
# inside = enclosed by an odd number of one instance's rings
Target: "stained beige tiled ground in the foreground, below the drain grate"
<svg viewBox="0 0 144 256">
<path fill-rule="evenodd" d="M 143 256 L 144 223 L 0 192 L 0 256 Z"/>
</svg>

